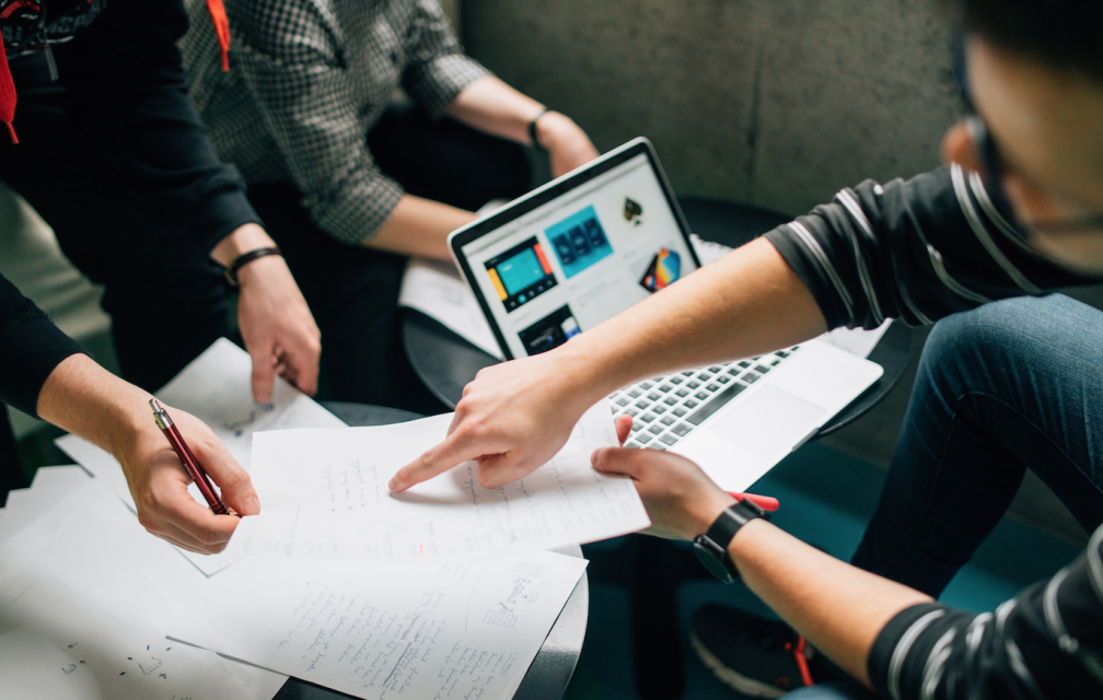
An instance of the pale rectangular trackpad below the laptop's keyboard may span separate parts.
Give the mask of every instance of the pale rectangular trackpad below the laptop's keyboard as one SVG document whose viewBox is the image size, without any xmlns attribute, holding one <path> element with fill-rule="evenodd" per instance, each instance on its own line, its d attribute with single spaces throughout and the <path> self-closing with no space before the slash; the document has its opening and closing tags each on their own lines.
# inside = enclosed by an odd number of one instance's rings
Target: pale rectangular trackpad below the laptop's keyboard
<svg viewBox="0 0 1103 700">
<path fill-rule="evenodd" d="M 764 386 L 721 416 L 709 430 L 761 457 L 771 459 L 808 434 L 826 409 Z"/>
</svg>

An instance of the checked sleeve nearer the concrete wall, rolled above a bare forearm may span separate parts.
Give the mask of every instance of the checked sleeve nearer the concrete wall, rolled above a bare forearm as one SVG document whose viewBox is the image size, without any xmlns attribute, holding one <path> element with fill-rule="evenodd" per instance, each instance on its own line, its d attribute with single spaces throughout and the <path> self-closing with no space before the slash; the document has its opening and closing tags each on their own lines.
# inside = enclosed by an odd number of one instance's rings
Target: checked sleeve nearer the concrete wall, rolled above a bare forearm
<svg viewBox="0 0 1103 700">
<path fill-rule="evenodd" d="M 403 87 L 433 119 L 463 88 L 491 75 L 463 53 L 437 0 L 417 0 L 408 36 Z"/>
</svg>

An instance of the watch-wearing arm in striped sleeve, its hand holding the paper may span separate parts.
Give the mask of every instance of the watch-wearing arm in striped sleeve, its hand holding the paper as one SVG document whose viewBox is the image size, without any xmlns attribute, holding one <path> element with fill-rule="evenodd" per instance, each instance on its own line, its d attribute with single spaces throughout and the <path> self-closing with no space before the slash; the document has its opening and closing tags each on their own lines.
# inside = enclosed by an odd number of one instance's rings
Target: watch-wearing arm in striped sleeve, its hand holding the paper
<svg viewBox="0 0 1103 700">
<path fill-rule="evenodd" d="M 630 429 L 623 417 L 618 432 Z M 676 454 L 607 448 L 592 461 L 599 472 L 632 478 L 653 535 L 695 538 L 733 502 Z M 764 520 L 740 528 L 728 556 L 763 602 L 881 697 L 1103 692 L 1103 527 L 1053 578 L 979 615 L 843 563 Z"/>
</svg>

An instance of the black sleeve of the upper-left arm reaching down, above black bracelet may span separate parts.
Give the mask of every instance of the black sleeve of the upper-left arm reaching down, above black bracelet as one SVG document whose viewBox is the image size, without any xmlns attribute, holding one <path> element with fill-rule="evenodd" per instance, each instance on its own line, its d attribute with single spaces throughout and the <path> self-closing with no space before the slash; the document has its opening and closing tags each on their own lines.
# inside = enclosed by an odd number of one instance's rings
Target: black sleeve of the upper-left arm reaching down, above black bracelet
<svg viewBox="0 0 1103 700">
<path fill-rule="evenodd" d="M 115 0 L 54 54 L 82 138 L 104 166 L 210 251 L 260 219 L 188 97 L 176 49 L 186 30 L 180 0 Z"/>
</svg>

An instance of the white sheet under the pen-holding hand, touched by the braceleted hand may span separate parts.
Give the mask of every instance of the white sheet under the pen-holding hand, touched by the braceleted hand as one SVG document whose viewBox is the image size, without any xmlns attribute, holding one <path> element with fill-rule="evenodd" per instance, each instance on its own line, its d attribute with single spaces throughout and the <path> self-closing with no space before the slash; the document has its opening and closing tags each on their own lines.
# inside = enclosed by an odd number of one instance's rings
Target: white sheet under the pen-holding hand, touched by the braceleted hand
<svg viewBox="0 0 1103 700">
<path fill-rule="evenodd" d="M 279 377 L 276 377 L 272 400 L 265 405 L 257 403 L 253 400 L 249 354 L 226 338 L 218 338 L 156 396 L 170 407 L 170 416 L 171 409 L 176 408 L 206 423 L 246 471 L 249 470 L 255 432 L 344 426 L 336 416 Z M 153 422 L 152 411 L 149 420 Z M 127 480 L 115 457 L 76 435 L 65 435 L 55 442 L 137 513 Z M 195 500 L 206 505 L 195 484 L 189 491 Z M 259 491 L 258 494 L 264 507 L 265 495 Z M 179 551 L 207 575 L 237 560 L 226 553 L 207 556 Z"/>
</svg>

